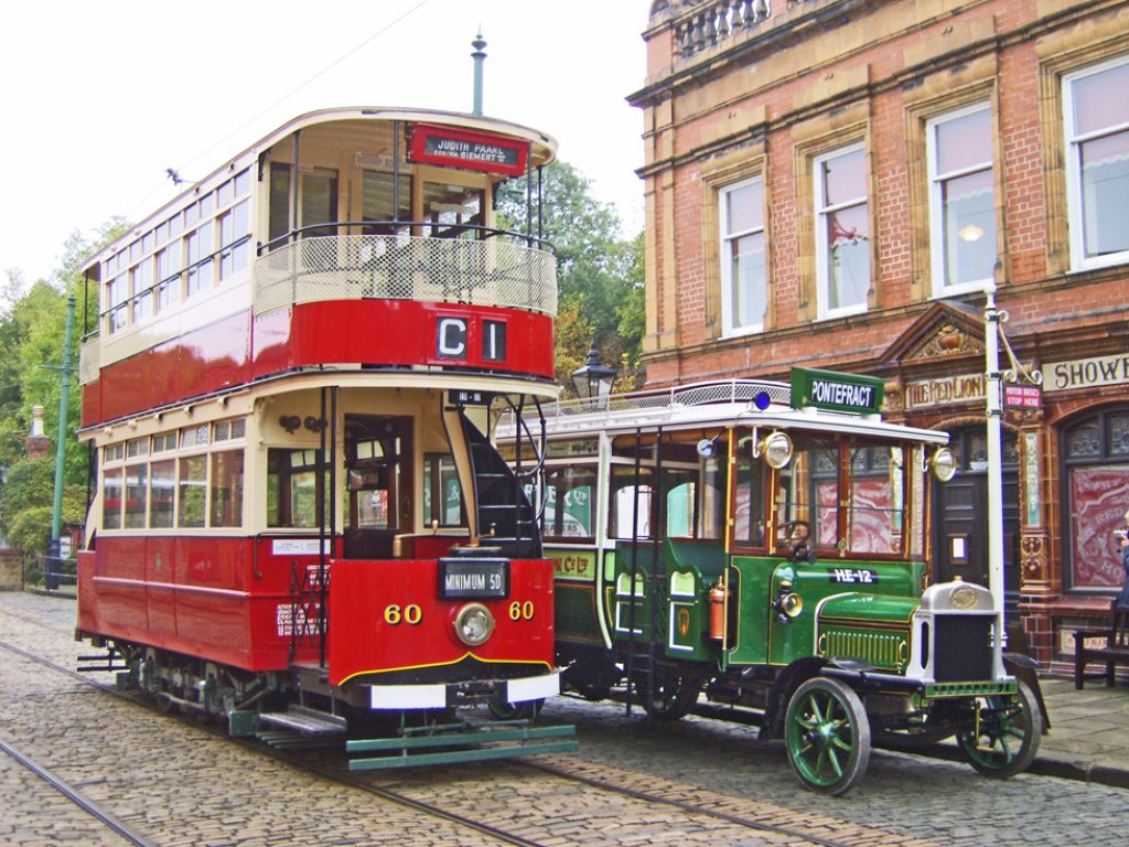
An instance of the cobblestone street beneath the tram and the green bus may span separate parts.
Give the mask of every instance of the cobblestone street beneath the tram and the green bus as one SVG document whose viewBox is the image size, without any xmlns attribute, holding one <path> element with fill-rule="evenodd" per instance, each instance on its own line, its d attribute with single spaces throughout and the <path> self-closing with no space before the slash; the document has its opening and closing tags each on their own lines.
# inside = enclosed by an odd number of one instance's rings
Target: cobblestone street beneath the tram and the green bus
<svg viewBox="0 0 1129 847">
<path fill-rule="evenodd" d="M 73 601 L 0 595 L 0 641 L 63 667 L 88 645 L 71 637 Z M 106 680 L 108 674 L 100 674 Z M 464 845 L 490 836 L 335 780 L 343 756 L 310 752 L 318 776 L 227 740 L 183 717 L 125 702 L 0 652 L 0 740 L 160 845 Z M 850 844 L 1112 844 L 1124 791 L 1022 775 L 998 781 L 969 767 L 875 751 L 863 783 L 842 798 L 800 788 L 782 744 L 754 730 L 690 717 L 651 723 L 615 704 L 560 698 L 549 723 L 575 723 L 580 752 L 520 762 L 412 769 L 366 776 L 394 791 L 495 826 L 539 845 L 803 844 L 723 818 L 604 792 L 569 779 L 597 774 L 616 787 L 716 810 L 787 822 Z M 325 772 L 323 770 L 323 772 Z M 0 786 L 0 841 L 120 845 L 121 837 L 7 757 Z"/>
</svg>

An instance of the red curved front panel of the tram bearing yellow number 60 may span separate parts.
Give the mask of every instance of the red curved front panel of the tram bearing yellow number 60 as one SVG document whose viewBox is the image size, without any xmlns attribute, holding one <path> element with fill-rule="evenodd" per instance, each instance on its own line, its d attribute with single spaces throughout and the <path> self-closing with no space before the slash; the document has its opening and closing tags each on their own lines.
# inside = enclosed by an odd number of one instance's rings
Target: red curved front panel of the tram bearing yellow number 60
<svg viewBox="0 0 1129 847">
<path fill-rule="evenodd" d="M 485 644 L 473 649 L 454 630 L 455 615 L 467 601 L 437 600 L 437 579 L 435 560 L 333 562 L 330 682 L 341 684 L 361 673 L 453 664 L 467 655 L 483 662 L 552 666 L 551 561 L 513 561 L 509 596 L 475 601 L 490 610 L 496 628 Z M 409 606 L 419 608 L 415 623 L 409 620 Z"/>
</svg>

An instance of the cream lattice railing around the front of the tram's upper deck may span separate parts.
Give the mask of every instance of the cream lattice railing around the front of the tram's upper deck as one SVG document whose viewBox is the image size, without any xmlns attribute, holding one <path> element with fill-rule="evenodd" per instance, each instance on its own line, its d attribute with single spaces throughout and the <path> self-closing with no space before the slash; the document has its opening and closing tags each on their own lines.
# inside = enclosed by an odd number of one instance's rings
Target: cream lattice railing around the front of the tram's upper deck
<svg viewBox="0 0 1129 847">
<path fill-rule="evenodd" d="M 387 298 L 557 314 L 557 261 L 549 250 L 499 230 L 463 230 L 491 237 L 315 235 L 274 247 L 255 261 L 254 312 Z"/>
</svg>

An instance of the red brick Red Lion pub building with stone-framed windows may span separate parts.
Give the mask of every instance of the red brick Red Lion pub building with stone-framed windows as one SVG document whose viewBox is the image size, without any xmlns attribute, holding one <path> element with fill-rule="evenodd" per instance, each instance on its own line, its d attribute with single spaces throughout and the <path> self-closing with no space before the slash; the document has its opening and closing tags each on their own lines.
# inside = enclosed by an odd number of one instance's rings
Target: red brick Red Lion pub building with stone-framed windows
<svg viewBox="0 0 1129 847">
<path fill-rule="evenodd" d="M 644 37 L 649 384 L 883 377 L 961 457 L 934 576 L 986 580 L 995 285 L 1044 376 L 1004 419 L 1006 606 L 1066 660 L 1122 580 L 1129 2 L 655 0 Z"/>
</svg>

